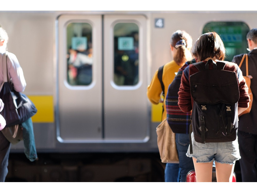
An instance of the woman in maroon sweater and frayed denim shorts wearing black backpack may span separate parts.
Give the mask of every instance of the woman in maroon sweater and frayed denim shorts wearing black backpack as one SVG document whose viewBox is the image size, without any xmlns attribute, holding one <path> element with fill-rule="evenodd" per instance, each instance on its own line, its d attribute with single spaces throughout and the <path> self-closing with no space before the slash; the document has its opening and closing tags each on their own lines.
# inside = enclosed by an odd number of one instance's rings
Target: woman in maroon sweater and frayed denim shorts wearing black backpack
<svg viewBox="0 0 257 193">
<path fill-rule="evenodd" d="M 250 98 L 248 95 L 248 87 L 245 84 L 245 79 L 242 76 L 242 72 L 240 68 L 238 68 L 238 66 L 235 63 L 223 61 L 225 59 L 225 48 L 220 36 L 216 32 L 208 32 L 201 35 L 196 45 L 195 57 L 197 62 L 203 62 L 201 64 L 203 64 L 203 67 L 205 66 L 205 69 L 206 69 L 207 63 L 208 63 L 208 66 L 207 66 L 208 70 L 218 68 L 219 66 L 218 64 L 223 63 L 224 71 L 230 71 L 236 74 L 235 77 L 239 86 L 239 93 L 238 93 L 239 100 L 237 102 L 238 106 L 237 106 L 237 109 L 235 109 L 234 115 L 236 116 L 235 117 L 236 121 L 238 121 L 238 115 L 241 112 L 245 111 L 249 106 Z M 196 64 L 199 64 L 199 63 L 196 63 Z M 179 94 L 178 104 L 180 109 L 183 112 L 190 112 L 193 109 L 192 117 L 194 113 L 193 104 L 195 105 L 194 103 L 195 98 L 193 99 L 191 95 L 192 92 L 190 91 L 190 86 L 191 86 L 190 76 L 199 72 L 199 68 L 196 67 L 196 64 L 190 64 L 183 71 L 181 84 L 180 84 L 180 91 L 178 92 Z M 207 72 L 208 70 L 206 70 L 205 72 Z M 209 81 L 211 81 L 211 79 L 207 79 L 204 83 Z M 226 81 L 227 81 L 226 79 L 219 80 L 219 82 L 226 82 Z M 225 93 L 225 95 L 227 94 L 230 94 L 230 93 Z M 212 101 L 212 100 L 209 100 L 209 101 Z M 206 110 L 204 105 L 202 107 L 203 107 L 202 110 Z M 230 107 L 228 107 L 228 109 L 230 109 Z M 203 116 L 199 115 L 199 117 L 200 117 L 199 120 L 202 121 Z M 207 122 L 207 120 L 205 121 Z M 192 119 L 192 125 L 194 125 L 195 122 L 196 120 Z M 227 122 L 229 121 L 227 120 Z M 221 123 L 216 122 L 216 124 L 213 124 L 213 127 L 218 128 L 220 126 L 219 124 Z M 228 126 L 230 125 L 227 125 L 227 127 Z M 205 141 L 197 142 L 196 141 L 197 138 L 195 138 L 196 132 L 192 132 L 191 134 L 192 143 L 189 145 L 188 152 L 186 153 L 186 155 L 188 157 L 193 158 L 197 182 L 212 181 L 213 161 L 215 161 L 215 165 L 216 165 L 217 182 L 232 181 L 232 174 L 234 172 L 235 162 L 236 160 L 239 160 L 241 158 L 239 154 L 238 141 L 236 137 L 237 127 L 236 126 L 233 127 L 233 126 L 234 125 L 231 125 L 232 129 L 235 130 L 235 139 L 232 139 L 232 141 L 230 140 L 226 142 L 208 142 L 208 141 L 207 143 L 205 143 Z M 208 132 L 208 130 L 209 132 L 211 130 L 211 129 L 206 129 L 206 128 L 202 129 L 202 128 L 205 128 L 205 127 L 199 127 L 199 130 L 202 134 L 205 132 L 205 135 Z M 204 132 L 202 132 L 203 130 Z M 218 131 L 217 133 L 221 133 Z M 226 136 L 228 133 L 229 132 L 223 133 L 223 135 Z M 193 151 L 190 151 L 190 148 Z"/>
</svg>

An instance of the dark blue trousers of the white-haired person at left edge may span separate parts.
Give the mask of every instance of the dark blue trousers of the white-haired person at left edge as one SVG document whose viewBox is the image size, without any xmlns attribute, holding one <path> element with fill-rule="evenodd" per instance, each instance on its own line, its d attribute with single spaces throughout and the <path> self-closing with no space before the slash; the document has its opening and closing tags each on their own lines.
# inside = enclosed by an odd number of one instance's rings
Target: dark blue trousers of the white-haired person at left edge
<svg viewBox="0 0 257 193">
<path fill-rule="evenodd" d="M 0 131 L 0 182 L 4 182 L 8 173 L 8 159 L 11 149 L 11 143 Z"/>
</svg>

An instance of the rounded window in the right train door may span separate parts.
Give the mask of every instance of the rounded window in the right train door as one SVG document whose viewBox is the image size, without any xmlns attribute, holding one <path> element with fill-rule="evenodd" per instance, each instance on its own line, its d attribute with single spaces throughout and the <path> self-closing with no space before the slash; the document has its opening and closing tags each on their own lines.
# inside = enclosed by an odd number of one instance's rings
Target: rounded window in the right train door
<svg viewBox="0 0 257 193">
<path fill-rule="evenodd" d="M 138 83 L 138 25 L 117 23 L 114 26 L 114 83 Z"/>
</svg>

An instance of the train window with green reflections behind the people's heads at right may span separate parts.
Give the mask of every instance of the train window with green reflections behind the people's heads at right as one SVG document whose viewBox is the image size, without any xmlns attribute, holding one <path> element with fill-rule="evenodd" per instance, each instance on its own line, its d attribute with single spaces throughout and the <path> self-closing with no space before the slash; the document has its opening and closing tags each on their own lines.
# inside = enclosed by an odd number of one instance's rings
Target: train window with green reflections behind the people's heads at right
<svg viewBox="0 0 257 193">
<path fill-rule="evenodd" d="M 234 55 L 247 53 L 246 34 L 249 27 L 244 22 L 209 22 L 203 28 L 203 33 L 216 31 L 225 46 L 227 61 L 231 61 Z"/>
</svg>

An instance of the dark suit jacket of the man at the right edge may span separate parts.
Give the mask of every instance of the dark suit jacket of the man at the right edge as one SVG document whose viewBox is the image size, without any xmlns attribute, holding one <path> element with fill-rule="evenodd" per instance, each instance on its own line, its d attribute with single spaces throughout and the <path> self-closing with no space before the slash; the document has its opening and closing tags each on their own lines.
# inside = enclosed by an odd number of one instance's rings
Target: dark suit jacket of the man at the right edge
<svg viewBox="0 0 257 193">
<path fill-rule="evenodd" d="M 240 64 L 244 54 L 234 56 L 232 62 Z M 241 66 L 243 76 L 246 76 L 245 60 Z M 239 117 L 238 130 L 257 134 L 257 49 L 253 49 L 248 54 L 248 72 L 253 78 L 251 79 L 251 90 L 253 93 L 253 104 L 250 113 Z"/>
</svg>

